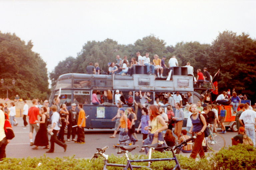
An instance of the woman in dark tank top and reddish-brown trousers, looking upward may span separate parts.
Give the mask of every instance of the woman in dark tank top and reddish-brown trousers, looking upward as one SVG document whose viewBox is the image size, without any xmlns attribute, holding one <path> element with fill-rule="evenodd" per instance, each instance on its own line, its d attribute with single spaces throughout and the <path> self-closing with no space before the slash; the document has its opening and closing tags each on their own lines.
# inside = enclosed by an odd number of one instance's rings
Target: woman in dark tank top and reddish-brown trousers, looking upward
<svg viewBox="0 0 256 170">
<path fill-rule="evenodd" d="M 204 150 L 202 147 L 202 142 L 204 140 L 204 130 L 206 129 L 206 121 L 204 116 L 202 114 L 199 114 L 196 104 L 192 104 L 189 108 L 189 111 L 192 112 L 192 126 L 189 130 L 189 133 L 192 133 L 192 135 L 196 135 L 196 139 L 194 139 L 195 144 L 192 149 L 190 157 L 195 159 L 197 154 L 199 153 L 200 158 L 203 158 Z"/>
</svg>

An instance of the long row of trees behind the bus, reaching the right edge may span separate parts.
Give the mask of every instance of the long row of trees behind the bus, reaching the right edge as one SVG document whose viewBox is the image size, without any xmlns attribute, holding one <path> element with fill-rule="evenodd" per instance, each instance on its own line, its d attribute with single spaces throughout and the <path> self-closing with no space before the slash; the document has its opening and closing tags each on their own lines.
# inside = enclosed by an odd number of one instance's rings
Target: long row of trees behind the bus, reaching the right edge
<svg viewBox="0 0 256 170">
<path fill-rule="evenodd" d="M 166 63 L 175 55 L 180 66 L 190 62 L 195 75 L 198 68 L 202 70 L 207 67 L 212 76 L 220 69 L 219 91 L 235 88 L 237 92 L 255 99 L 256 40 L 248 34 L 237 35 L 232 31 L 219 33 L 211 44 L 178 42 L 172 46 L 166 45 L 164 40 L 154 35 L 138 39 L 134 44 L 128 45 L 118 44 L 111 39 L 102 42 L 88 41 L 76 58 L 68 57 L 60 61 L 50 73 L 52 85 L 55 85 L 61 74 L 86 73 L 89 62 L 98 62 L 100 68 L 107 71 L 107 63 L 114 62 L 116 55 L 120 55 L 121 58 L 126 55 L 130 61 L 132 57 L 136 58 L 137 51 L 140 51 L 142 56 L 149 52 L 151 61 L 154 54 L 158 54 L 160 58 L 166 56 Z"/>
</svg>

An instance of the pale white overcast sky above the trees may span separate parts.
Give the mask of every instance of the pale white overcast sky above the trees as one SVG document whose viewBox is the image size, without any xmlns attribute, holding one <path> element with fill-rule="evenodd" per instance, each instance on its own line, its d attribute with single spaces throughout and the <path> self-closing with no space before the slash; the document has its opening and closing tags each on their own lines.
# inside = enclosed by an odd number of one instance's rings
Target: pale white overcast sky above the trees
<svg viewBox="0 0 256 170">
<path fill-rule="evenodd" d="M 33 42 L 48 72 L 87 41 L 211 43 L 219 32 L 256 38 L 255 0 L 0 0 L 0 31 Z"/>
</svg>

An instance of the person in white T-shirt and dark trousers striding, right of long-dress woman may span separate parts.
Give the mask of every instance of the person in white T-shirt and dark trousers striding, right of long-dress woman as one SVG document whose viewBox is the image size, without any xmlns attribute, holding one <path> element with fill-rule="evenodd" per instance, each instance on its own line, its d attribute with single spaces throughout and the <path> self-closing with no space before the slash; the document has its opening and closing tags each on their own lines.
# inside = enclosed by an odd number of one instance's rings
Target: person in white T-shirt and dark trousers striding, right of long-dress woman
<svg viewBox="0 0 256 170">
<path fill-rule="evenodd" d="M 50 149 L 46 152 L 46 153 L 53 153 L 54 152 L 54 143 L 57 143 L 58 145 L 60 145 L 61 147 L 64 148 L 64 152 L 66 152 L 67 149 L 67 144 L 61 142 L 58 138 L 57 138 L 57 133 L 60 130 L 60 127 L 58 125 L 59 119 L 60 119 L 60 114 L 57 112 L 57 106 L 56 105 L 52 105 L 51 107 L 52 109 L 52 128 L 50 130 L 48 130 L 48 132 L 51 134 L 51 147 Z"/>
</svg>

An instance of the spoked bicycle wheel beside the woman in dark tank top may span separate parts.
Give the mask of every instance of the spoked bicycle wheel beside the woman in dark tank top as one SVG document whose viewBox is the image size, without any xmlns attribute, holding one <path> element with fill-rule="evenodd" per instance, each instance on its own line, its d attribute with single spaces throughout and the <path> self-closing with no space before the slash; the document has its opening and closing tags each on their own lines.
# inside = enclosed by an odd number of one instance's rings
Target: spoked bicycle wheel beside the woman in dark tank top
<svg viewBox="0 0 256 170">
<path fill-rule="evenodd" d="M 226 141 L 220 134 L 212 133 L 208 136 L 206 144 L 210 150 L 219 151 L 225 147 Z"/>
</svg>

